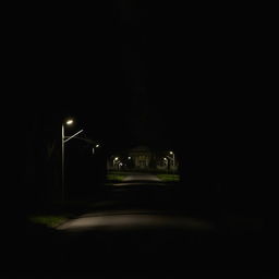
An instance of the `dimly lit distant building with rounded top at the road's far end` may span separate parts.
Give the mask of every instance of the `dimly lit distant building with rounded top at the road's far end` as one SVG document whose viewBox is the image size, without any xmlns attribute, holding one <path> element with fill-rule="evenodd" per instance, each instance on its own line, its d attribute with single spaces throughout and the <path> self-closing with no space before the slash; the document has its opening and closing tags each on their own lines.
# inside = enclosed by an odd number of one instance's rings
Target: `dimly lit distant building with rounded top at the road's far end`
<svg viewBox="0 0 279 279">
<path fill-rule="evenodd" d="M 108 170 L 177 171 L 178 160 L 170 151 L 154 151 L 147 146 L 137 146 L 111 156 Z M 174 162 L 174 163 L 173 163 Z"/>
</svg>

